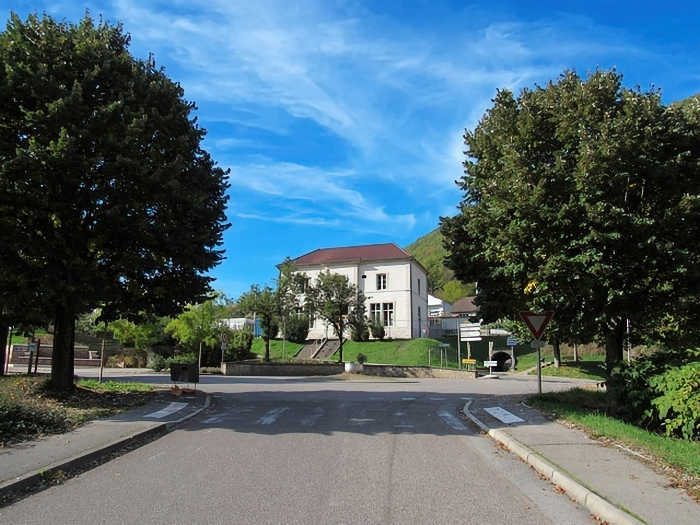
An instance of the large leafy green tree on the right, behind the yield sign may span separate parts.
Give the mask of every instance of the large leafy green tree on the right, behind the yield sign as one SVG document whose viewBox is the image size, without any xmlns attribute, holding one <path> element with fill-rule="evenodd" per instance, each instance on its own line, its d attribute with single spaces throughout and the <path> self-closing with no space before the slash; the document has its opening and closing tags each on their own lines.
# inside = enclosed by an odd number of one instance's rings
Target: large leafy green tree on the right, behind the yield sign
<svg viewBox="0 0 700 525">
<path fill-rule="evenodd" d="M 560 340 L 604 341 L 610 378 L 626 319 L 697 295 L 699 115 L 615 71 L 499 92 L 465 135 L 461 213 L 441 225 L 484 318 L 555 310 Z"/>
</svg>

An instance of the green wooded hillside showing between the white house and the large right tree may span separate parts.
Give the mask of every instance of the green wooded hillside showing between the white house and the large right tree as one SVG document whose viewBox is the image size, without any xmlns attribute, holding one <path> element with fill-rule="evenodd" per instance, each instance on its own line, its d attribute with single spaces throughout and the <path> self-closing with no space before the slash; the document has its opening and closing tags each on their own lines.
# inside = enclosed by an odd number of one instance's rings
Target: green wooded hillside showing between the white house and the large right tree
<svg viewBox="0 0 700 525">
<path fill-rule="evenodd" d="M 438 228 L 408 245 L 406 251 L 428 270 L 430 293 L 452 303 L 473 295 L 474 286 L 455 280 L 452 271 L 445 268 L 443 260 L 447 250 L 442 241 L 443 236 Z"/>
</svg>

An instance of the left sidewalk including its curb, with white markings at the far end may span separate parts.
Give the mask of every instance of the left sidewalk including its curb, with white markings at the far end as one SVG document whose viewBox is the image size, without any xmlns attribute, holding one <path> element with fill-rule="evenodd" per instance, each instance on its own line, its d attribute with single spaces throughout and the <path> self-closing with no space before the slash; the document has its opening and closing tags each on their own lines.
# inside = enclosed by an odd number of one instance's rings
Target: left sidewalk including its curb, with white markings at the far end
<svg viewBox="0 0 700 525">
<path fill-rule="evenodd" d="M 169 432 L 205 410 L 202 391 L 173 396 L 162 391 L 148 404 L 68 432 L 0 448 L 0 497 L 21 491 L 58 471 L 82 467 L 150 436 Z"/>
</svg>

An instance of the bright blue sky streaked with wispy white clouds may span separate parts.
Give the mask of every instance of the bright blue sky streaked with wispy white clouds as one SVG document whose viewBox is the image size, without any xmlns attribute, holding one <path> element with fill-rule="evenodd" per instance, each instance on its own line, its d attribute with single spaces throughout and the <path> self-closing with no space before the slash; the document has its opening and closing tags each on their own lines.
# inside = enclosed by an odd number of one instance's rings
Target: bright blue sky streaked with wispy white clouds
<svg viewBox="0 0 700 525">
<path fill-rule="evenodd" d="M 616 67 L 670 103 L 700 93 L 699 2 L 0 0 L 121 21 L 179 82 L 230 168 L 232 298 L 316 248 L 401 247 L 453 215 L 464 129 L 496 90 Z"/>
</svg>

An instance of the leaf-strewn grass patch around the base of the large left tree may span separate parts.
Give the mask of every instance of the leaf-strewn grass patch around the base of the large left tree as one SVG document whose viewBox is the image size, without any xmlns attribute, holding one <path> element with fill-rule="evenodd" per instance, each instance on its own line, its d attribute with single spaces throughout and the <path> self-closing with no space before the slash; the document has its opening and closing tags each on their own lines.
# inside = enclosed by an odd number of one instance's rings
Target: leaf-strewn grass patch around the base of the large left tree
<svg viewBox="0 0 700 525">
<path fill-rule="evenodd" d="M 49 434 L 68 432 L 86 421 L 110 417 L 148 402 L 143 383 L 80 379 L 73 394 L 46 387 L 47 376 L 0 376 L 0 448 Z"/>
</svg>

